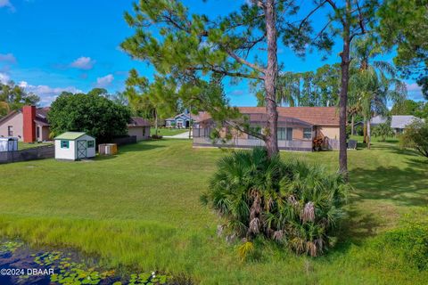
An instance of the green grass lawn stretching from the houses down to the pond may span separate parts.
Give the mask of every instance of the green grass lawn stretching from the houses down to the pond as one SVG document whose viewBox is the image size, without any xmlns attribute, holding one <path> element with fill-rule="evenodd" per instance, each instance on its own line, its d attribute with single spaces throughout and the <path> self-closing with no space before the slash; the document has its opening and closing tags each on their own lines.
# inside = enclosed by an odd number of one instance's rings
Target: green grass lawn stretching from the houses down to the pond
<svg viewBox="0 0 428 285">
<path fill-rule="evenodd" d="M 358 138 L 361 141 L 360 138 Z M 316 259 L 268 245 L 241 262 L 239 244 L 217 237 L 218 216 L 199 201 L 227 151 L 160 140 L 122 147 L 92 162 L 53 159 L 0 165 L 0 234 L 34 246 L 77 248 L 106 266 L 185 273 L 202 284 L 415 284 L 428 274 L 373 260 L 369 245 L 422 219 L 426 159 L 395 142 L 349 151 L 351 194 L 342 240 Z M 338 152 L 283 152 L 337 169 Z M 25 175 L 23 175 L 25 173 Z M 416 214 L 412 214 L 416 213 Z M 422 217 L 420 217 L 421 215 Z M 255 250 L 261 249 L 256 244 Z"/>
</svg>

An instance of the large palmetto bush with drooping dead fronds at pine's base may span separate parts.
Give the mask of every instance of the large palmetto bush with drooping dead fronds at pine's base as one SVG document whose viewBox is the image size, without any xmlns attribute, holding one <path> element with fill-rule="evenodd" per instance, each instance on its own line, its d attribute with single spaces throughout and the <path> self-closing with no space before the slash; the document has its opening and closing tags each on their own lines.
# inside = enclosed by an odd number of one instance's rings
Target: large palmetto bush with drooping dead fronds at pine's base
<svg viewBox="0 0 428 285">
<path fill-rule="evenodd" d="M 342 175 L 279 156 L 269 159 L 266 149 L 256 148 L 220 159 L 202 201 L 226 219 L 229 235 L 262 236 L 318 256 L 333 246 L 349 189 Z"/>
</svg>

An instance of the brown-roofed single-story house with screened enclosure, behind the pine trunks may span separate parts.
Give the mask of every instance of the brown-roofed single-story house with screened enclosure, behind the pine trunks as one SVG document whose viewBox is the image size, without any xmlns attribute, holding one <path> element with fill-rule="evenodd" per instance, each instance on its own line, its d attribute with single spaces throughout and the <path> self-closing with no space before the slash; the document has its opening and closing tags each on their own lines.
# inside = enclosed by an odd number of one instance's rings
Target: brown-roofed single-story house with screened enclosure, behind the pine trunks
<svg viewBox="0 0 428 285">
<path fill-rule="evenodd" d="M 268 116 L 264 107 L 238 108 L 250 127 L 262 131 L 266 126 Z M 339 114 L 335 107 L 278 107 L 278 147 L 286 151 L 312 151 L 313 140 L 323 138 L 325 148 L 339 147 Z M 264 142 L 250 134 L 238 130 L 230 130 L 232 140 L 227 142 L 212 142 L 210 133 L 218 128 L 210 118 L 210 114 L 199 115 L 199 120 L 193 125 L 193 146 L 231 146 L 236 148 L 251 148 L 264 145 Z M 226 127 L 221 126 L 220 136 L 226 137 Z M 223 133 L 222 133 L 223 132 Z"/>
</svg>

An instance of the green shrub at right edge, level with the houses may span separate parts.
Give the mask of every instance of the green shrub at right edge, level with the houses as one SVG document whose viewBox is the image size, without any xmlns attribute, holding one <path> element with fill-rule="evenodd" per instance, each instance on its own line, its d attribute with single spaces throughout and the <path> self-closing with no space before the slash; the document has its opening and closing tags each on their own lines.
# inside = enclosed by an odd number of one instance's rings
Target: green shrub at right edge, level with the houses
<svg viewBox="0 0 428 285">
<path fill-rule="evenodd" d="M 404 134 L 399 137 L 402 148 L 412 148 L 428 158 L 428 121 L 416 120 L 407 125 Z"/>
</svg>

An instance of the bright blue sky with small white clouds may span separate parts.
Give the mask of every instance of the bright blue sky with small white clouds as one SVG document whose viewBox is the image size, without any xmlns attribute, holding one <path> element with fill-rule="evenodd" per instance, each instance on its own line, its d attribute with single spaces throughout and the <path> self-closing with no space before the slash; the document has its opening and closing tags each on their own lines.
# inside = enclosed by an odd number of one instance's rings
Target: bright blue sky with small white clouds
<svg viewBox="0 0 428 285">
<path fill-rule="evenodd" d="M 237 8 L 244 0 L 186 0 L 194 12 L 215 16 Z M 124 88 L 128 70 L 152 77 L 153 69 L 132 61 L 119 44 L 132 30 L 123 20 L 132 0 L 0 0 L 0 81 L 12 79 L 38 94 L 49 105 L 62 91 L 87 92 L 95 86 L 112 94 Z M 315 70 L 339 61 L 338 47 L 327 61 L 317 53 L 300 59 L 284 47 L 284 70 Z M 391 60 L 391 56 L 386 56 Z M 409 97 L 422 100 L 420 88 L 408 81 Z M 232 104 L 253 106 L 248 84 L 226 85 Z"/>
</svg>

